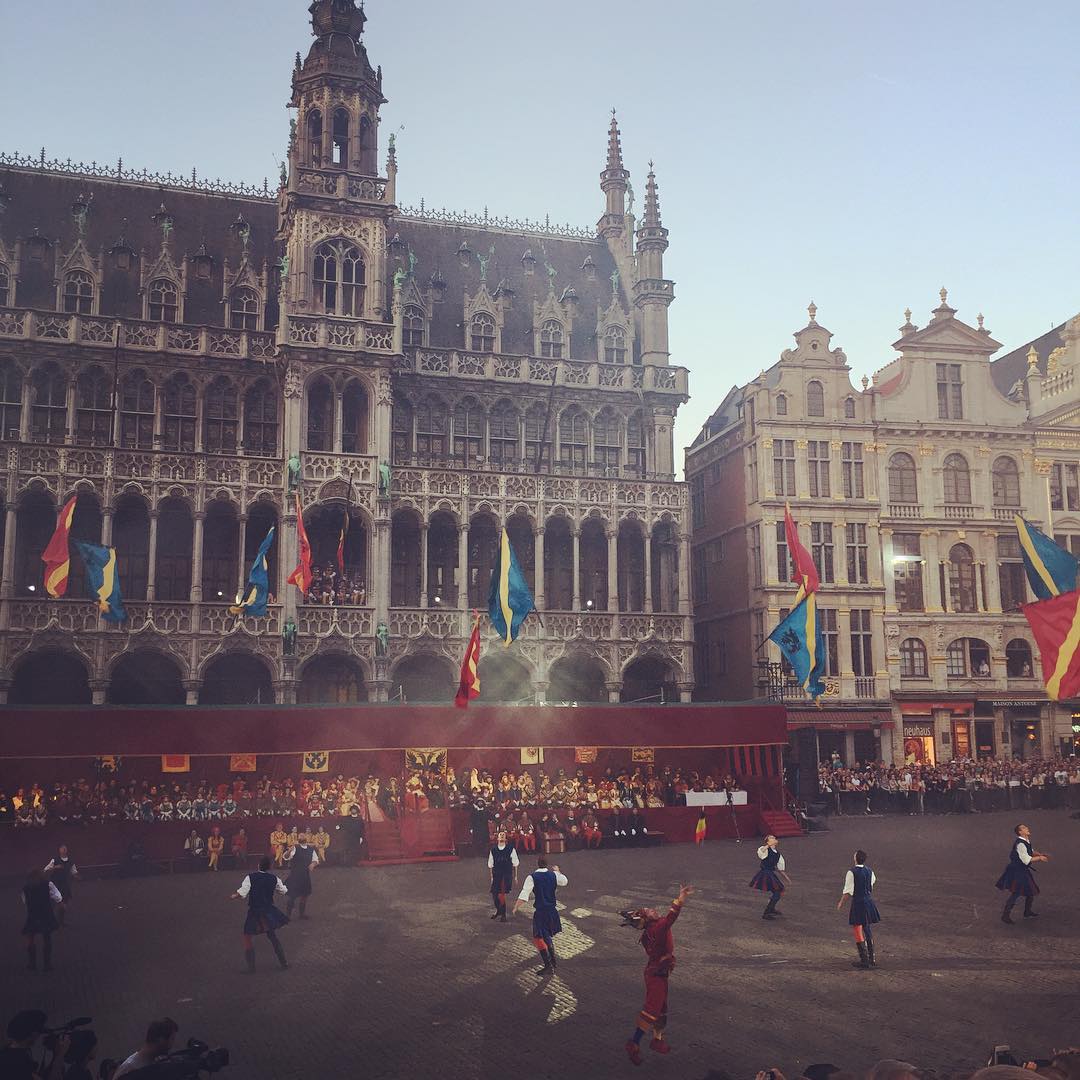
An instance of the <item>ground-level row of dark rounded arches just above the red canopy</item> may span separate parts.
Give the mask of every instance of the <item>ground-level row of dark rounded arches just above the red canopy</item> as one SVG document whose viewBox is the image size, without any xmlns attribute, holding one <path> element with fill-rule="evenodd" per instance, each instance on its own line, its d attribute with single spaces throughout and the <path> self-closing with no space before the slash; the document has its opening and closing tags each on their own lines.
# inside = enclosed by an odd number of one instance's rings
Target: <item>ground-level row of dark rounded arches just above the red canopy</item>
<svg viewBox="0 0 1080 1080">
<path fill-rule="evenodd" d="M 494 653 L 480 664 L 484 700 L 490 703 L 531 703 L 534 677 L 518 659 Z M 403 658 L 391 670 L 391 697 L 410 703 L 445 703 L 454 696 L 458 675 L 440 656 Z M 251 652 L 233 651 L 211 660 L 192 693 L 200 705 L 257 705 L 274 702 L 270 665 Z M 606 702 L 618 693 L 625 702 L 653 699 L 677 701 L 675 672 L 660 657 L 632 661 L 618 688 L 609 690 L 603 665 L 590 656 L 556 660 L 549 672 L 545 699 L 552 703 Z M 368 674 L 353 657 L 316 656 L 301 666 L 296 683 L 299 704 L 353 704 L 369 700 Z M 123 653 L 105 685 L 105 702 L 112 705 L 183 705 L 188 686 L 178 662 L 154 649 Z M 93 701 L 90 673 L 83 659 L 69 651 L 45 649 L 24 658 L 12 673 L 11 705 L 89 705 Z"/>
</svg>

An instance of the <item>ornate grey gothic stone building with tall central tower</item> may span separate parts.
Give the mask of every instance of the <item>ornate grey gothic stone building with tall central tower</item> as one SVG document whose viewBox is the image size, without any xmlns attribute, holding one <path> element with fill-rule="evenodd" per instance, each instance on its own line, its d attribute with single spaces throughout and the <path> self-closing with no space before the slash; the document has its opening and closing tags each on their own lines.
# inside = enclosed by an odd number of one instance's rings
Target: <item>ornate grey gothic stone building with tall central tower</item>
<svg viewBox="0 0 1080 1080">
<path fill-rule="evenodd" d="M 276 192 L 0 158 L 0 692 L 448 701 L 505 526 L 543 621 L 487 638 L 485 699 L 688 699 L 653 174 L 636 221 L 612 117 L 595 230 L 405 212 L 364 14 L 311 13 Z M 334 603 L 285 584 L 294 489 L 316 566 L 343 542 Z M 120 626 L 78 557 L 43 595 L 71 495 L 72 536 L 117 551 Z M 269 613 L 238 620 L 271 526 Z"/>
</svg>

